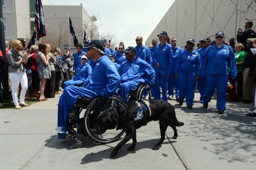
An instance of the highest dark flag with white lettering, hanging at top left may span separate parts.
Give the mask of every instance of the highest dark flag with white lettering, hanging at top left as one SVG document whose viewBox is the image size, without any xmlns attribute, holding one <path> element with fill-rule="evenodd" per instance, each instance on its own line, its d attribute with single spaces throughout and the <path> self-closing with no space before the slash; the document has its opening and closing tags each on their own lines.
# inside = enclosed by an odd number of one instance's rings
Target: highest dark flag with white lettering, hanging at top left
<svg viewBox="0 0 256 170">
<path fill-rule="evenodd" d="M 46 36 L 46 31 L 44 27 L 44 10 L 41 0 L 36 0 L 36 12 L 35 12 L 35 23 L 37 27 L 37 40 L 39 38 Z"/>
</svg>

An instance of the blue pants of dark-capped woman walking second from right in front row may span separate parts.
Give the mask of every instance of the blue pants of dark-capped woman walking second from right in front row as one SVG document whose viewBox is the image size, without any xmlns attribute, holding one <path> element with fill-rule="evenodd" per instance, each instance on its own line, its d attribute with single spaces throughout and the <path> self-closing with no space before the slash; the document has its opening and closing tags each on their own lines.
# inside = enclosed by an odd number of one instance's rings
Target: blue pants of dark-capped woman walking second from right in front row
<svg viewBox="0 0 256 170">
<path fill-rule="evenodd" d="M 179 73 L 178 76 L 180 99 L 186 98 L 186 105 L 194 105 L 194 96 L 196 89 L 196 75 L 187 75 Z"/>
</svg>

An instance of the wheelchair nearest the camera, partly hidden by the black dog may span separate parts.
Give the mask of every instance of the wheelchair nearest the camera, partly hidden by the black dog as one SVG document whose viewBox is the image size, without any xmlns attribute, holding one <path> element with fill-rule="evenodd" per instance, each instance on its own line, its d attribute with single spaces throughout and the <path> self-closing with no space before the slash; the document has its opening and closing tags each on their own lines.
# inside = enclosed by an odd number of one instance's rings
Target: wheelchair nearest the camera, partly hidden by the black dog
<svg viewBox="0 0 256 170">
<path fill-rule="evenodd" d="M 76 104 L 69 108 L 68 111 L 68 123 L 66 126 L 68 135 L 72 135 L 71 139 L 74 141 L 74 147 L 82 147 L 82 141 L 77 138 L 77 134 L 83 134 L 88 136 L 94 142 L 97 143 L 110 143 L 122 136 L 124 134 L 123 130 L 107 130 L 104 134 L 95 134 L 92 130 L 97 124 L 97 118 L 100 113 L 106 109 L 116 107 L 117 105 L 124 104 L 124 101 L 118 97 L 110 97 L 106 101 L 106 105 L 100 107 L 96 104 L 97 99 L 82 98 L 78 97 Z M 81 116 L 82 110 L 86 109 L 84 116 Z"/>
</svg>

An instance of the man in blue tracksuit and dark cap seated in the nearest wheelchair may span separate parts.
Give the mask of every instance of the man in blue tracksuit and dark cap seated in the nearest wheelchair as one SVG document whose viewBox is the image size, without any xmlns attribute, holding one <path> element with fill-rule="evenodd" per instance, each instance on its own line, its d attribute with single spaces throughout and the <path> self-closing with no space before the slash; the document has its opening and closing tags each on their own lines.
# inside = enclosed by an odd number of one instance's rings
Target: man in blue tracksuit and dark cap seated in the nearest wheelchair
<svg viewBox="0 0 256 170">
<path fill-rule="evenodd" d="M 65 138 L 68 125 L 68 111 L 78 97 L 95 99 L 98 105 L 104 105 L 106 99 L 120 87 L 120 76 L 116 67 L 107 56 L 104 56 L 104 46 L 100 40 L 92 40 L 85 45 L 88 59 L 94 61 L 92 74 L 83 87 L 68 86 L 64 89 L 58 103 L 58 138 Z M 84 87 L 85 86 L 85 87 Z"/>
</svg>

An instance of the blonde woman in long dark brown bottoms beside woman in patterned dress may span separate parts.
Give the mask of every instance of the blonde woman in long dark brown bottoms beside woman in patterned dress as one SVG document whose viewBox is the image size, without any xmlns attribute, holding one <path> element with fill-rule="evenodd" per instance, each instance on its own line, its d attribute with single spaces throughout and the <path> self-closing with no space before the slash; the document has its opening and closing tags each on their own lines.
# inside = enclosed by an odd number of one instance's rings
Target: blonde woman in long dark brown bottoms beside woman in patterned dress
<svg viewBox="0 0 256 170">
<path fill-rule="evenodd" d="M 50 52 L 51 46 L 50 44 L 46 44 L 46 52 L 50 56 L 49 64 L 51 70 L 51 78 L 46 80 L 44 96 L 46 98 L 54 98 L 55 97 L 55 68 L 54 64 L 56 63 L 56 57 Z"/>
</svg>

